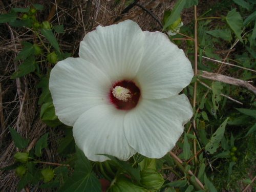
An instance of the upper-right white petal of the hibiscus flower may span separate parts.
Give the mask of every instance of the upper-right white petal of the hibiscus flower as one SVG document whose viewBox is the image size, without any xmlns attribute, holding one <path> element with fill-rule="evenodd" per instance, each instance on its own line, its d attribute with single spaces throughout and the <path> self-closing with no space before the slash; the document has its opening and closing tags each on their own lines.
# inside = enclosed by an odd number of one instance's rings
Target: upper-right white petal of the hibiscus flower
<svg viewBox="0 0 256 192">
<path fill-rule="evenodd" d="M 161 99 L 178 94 L 194 75 L 190 61 L 165 34 L 148 31 L 144 34 L 145 51 L 136 75 L 142 97 Z"/>
</svg>

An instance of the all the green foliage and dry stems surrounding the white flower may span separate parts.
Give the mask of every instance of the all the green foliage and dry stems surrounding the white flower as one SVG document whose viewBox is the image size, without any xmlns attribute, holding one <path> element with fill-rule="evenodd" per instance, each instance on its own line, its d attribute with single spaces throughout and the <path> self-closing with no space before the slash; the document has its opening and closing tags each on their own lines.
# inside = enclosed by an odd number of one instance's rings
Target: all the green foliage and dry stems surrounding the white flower
<svg viewBox="0 0 256 192">
<path fill-rule="evenodd" d="M 255 191 L 255 4 L 0 1 L 1 191 Z M 196 73 L 183 91 L 195 115 L 161 159 L 90 162 L 55 115 L 49 73 L 77 56 L 84 33 L 128 18 L 143 30 L 177 32 L 169 38 Z"/>
</svg>

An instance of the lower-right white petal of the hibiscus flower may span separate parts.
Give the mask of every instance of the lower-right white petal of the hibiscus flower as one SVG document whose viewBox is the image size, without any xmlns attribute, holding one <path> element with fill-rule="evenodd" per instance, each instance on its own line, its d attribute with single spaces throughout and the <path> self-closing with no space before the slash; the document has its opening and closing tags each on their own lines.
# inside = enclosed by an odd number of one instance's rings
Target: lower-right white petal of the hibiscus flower
<svg viewBox="0 0 256 192">
<path fill-rule="evenodd" d="M 185 95 L 142 99 L 124 118 L 125 137 L 138 153 L 161 158 L 175 146 L 192 115 Z"/>
</svg>

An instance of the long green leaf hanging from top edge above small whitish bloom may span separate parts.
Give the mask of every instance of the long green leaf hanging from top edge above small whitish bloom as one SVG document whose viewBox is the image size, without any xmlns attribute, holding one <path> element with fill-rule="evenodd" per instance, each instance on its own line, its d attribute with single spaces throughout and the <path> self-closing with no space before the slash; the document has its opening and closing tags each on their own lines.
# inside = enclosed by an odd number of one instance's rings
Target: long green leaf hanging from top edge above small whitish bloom
<svg viewBox="0 0 256 192">
<path fill-rule="evenodd" d="M 175 4 L 172 13 L 170 13 L 169 17 L 166 18 L 166 22 L 164 23 L 163 29 L 166 29 L 168 26 L 172 25 L 178 18 L 180 18 L 180 13 L 186 5 L 187 0 L 178 0 Z"/>
</svg>

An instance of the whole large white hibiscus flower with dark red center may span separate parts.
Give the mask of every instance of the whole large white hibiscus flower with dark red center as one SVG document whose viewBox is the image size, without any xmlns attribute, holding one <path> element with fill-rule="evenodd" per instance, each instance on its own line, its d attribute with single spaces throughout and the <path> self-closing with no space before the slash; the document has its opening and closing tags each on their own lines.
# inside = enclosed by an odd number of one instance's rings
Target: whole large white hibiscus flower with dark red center
<svg viewBox="0 0 256 192">
<path fill-rule="evenodd" d="M 125 20 L 88 33 L 79 56 L 57 63 L 49 87 L 56 115 L 73 126 L 88 159 L 161 158 L 172 150 L 193 115 L 178 95 L 193 77 L 184 52 L 165 34 Z"/>
</svg>

